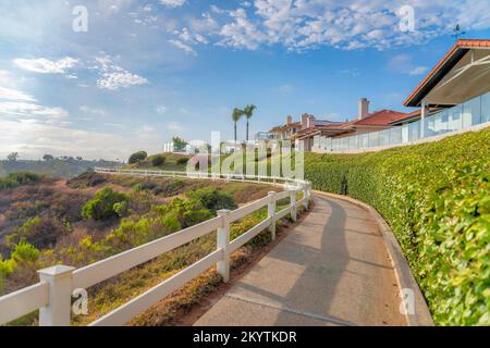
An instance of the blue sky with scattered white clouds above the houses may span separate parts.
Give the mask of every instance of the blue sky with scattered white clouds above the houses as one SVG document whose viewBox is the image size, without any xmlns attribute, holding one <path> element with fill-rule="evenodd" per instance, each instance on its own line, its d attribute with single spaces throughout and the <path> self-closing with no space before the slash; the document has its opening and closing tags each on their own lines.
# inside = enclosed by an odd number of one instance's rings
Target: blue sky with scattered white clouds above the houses
<svg viewBox="0 0 490 348">
<path fill-rule="evenodd" d="M 407 4 L 414 30 L 400 29 Z M 73 30 L 76 5 L 87 32 Z M 362 97 L 372 110 L 404 111 L 457 23 L 465 38 L 490 38 L 489 9 L 489 0 L 2 0 L 0 158 L 125 159 L 174 135 L 231 138 L 231 112 L 247 103 L 258 107 L 252 134 L 287 114 L 353 119 Z"/>
</svg>

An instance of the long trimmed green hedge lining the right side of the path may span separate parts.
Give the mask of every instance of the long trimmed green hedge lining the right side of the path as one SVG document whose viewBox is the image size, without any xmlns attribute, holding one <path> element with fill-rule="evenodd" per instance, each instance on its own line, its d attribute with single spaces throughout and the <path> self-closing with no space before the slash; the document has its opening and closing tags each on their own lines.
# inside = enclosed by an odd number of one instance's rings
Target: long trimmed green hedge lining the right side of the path
<svg viewBox="0 0 490 348">
<path fill-rule="evenodd" d="M 375 207 L 439 325 L 490 325 L 490 128 L 362 154 L 307 154 L 314 188 Z"/>
</svg>

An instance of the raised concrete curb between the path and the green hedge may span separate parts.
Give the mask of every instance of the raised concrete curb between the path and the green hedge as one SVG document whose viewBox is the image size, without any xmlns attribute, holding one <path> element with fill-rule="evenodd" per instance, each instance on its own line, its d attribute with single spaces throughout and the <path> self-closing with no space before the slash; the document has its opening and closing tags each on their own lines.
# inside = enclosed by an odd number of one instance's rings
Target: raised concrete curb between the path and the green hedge
<svg viewBox="0 0 490 348">
<path fill-rule="evenodd" d="M 390 258 L 393 263 L 399 287 L 401 289 L 412 289 L 414 291 L 415 314 L 405 314 L 408 326 L 433 326 L 434 324 L 432 321 L 432 316 L 430 315 L 429 307 L 427 306 L 426 299 L 424 298 L 417 281 L 415 281 L 408 261 L 406 260 L 402 251 L 402 247 L 396 240 L 393 231 L 387 224 L 380 213 L 378 213 L 378 211 L 371 206 L 347 196 L 328 194 L 318 190 L 314 190 L 314 194 L 347 201 L 367 210 L 371 214 L 371 216 L 378 222 L 380 232 L 383 235 L 384 244 L 387 245 L 388 252 L 390 253 Z"/>
</svg>

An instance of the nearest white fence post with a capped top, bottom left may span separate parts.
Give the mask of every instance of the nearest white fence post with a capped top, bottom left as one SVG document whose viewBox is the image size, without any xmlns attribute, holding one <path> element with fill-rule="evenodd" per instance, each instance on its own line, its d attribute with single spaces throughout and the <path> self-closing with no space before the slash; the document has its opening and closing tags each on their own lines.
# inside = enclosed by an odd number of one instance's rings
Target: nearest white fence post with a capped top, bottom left
<svg viewBox="0 0 490 348">
<path fill-rule="evenodd" d="M 39 326 L 70 326 L 74 270 L 66 265 L 54 265 L 38 271 L 40 282 L 49 284 L 49 302 L 39 309 Z"/>
</svg>

